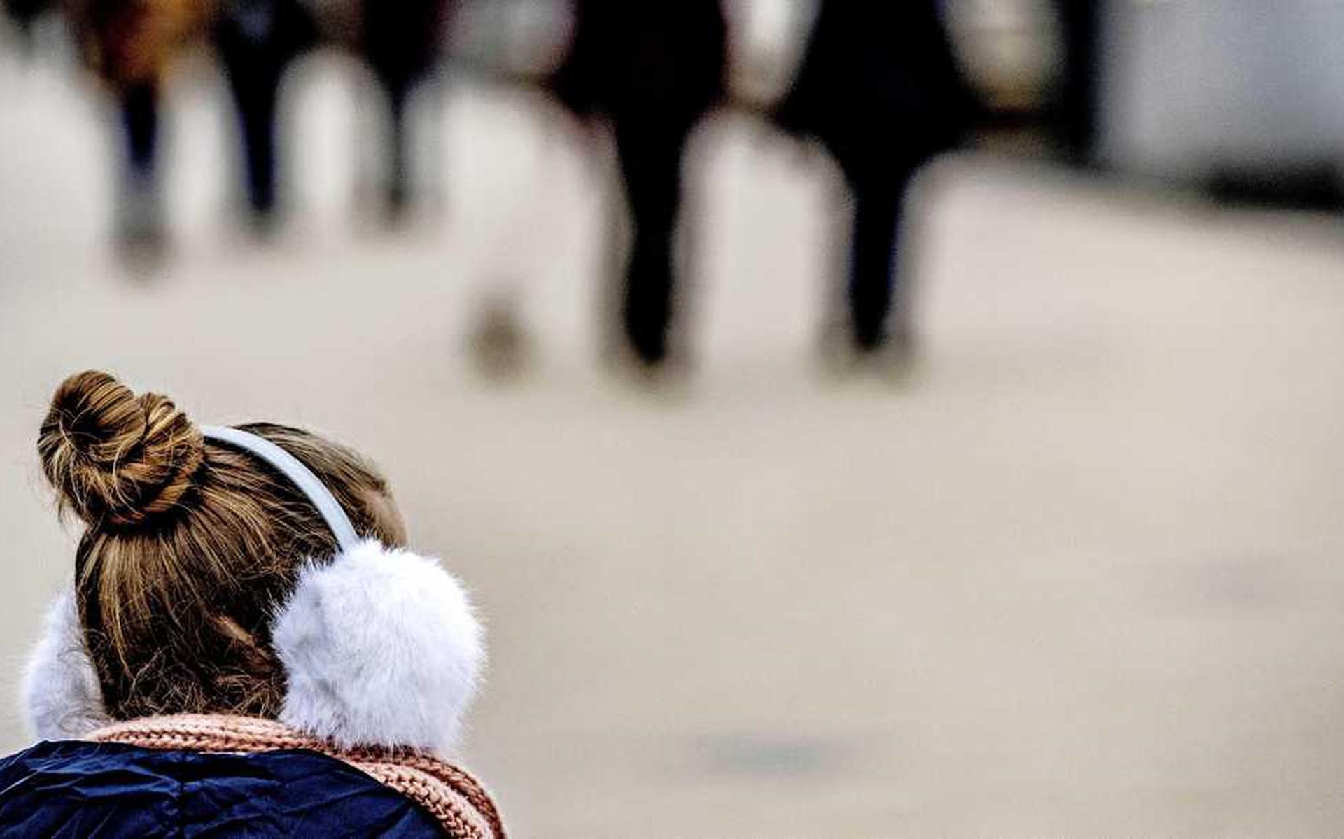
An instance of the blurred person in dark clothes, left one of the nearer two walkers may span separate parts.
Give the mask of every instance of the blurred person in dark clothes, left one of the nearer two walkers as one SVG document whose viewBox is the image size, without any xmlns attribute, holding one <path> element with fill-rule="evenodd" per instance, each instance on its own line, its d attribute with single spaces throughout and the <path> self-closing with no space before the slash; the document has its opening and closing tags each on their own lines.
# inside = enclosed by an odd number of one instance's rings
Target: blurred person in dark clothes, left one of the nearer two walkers
<svg viewBox="0 0 1344 839">
<path fill-rule="evenodd" d="M 724 93 L 727 26 L 719 0 L 578 0 L 574 40 L 552 78 L 579 117 L 605 117 L 616 136 L 633 241 L 621 319 L 636 356 L 668 355 L 691 130 Z"/>
</svg>

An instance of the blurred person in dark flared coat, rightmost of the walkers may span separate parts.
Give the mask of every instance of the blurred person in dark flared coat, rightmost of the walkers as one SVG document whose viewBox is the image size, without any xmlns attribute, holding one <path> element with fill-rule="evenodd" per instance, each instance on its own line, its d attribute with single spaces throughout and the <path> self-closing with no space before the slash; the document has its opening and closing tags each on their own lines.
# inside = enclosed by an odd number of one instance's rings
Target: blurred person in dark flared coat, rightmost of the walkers
<svg viewBox="0 0 1344 839">
<path fill-rule="evenodd" d="M 915 172 L 953 148 L 973 105 L 934 0 L 823 0 L 793 86 L 775 110 L 788 132 L 814 137 L 853 202 L 848 305 L 853 347 L 888 337 L 907 350 L 895 301 L 903 203 Z"/>
</svg>

